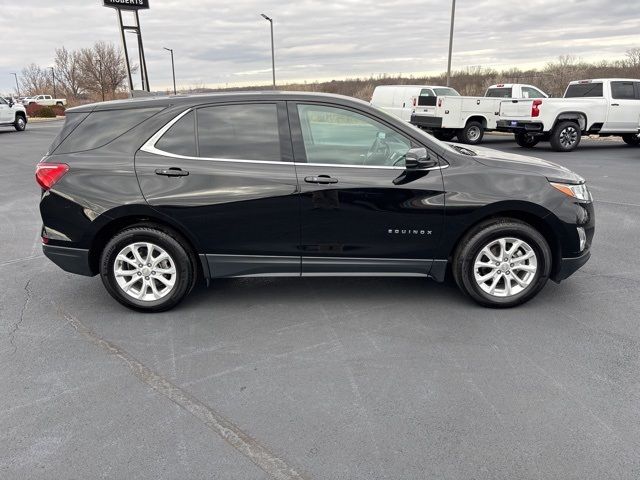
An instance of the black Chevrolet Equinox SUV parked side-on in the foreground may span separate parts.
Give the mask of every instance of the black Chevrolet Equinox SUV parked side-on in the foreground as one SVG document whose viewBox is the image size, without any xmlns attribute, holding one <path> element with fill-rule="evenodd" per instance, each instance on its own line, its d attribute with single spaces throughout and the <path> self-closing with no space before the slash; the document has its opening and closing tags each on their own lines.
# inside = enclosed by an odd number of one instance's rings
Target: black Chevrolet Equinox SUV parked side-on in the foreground
<svg viewBox="0 0 640 480">
<path fill-rule="evenodd" d="M 421 276 L 510 307 L 590 256 L 591 195 L 552 163 L 442 143 L 335 95 L 242 92 L 67 110 L 37 166 L 44 253 L 122 304 L 198 278 Z"/>
</svg>

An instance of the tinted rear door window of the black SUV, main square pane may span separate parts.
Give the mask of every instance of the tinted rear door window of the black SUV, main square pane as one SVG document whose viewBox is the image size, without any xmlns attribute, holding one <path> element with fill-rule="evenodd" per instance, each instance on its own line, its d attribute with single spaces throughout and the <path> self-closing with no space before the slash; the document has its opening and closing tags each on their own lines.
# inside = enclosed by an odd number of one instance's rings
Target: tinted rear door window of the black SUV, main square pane
<svg viewBox="0 0 640 480">
<path fill-rule="evenodd" d="M 198 109 L 201 157 L 280 161 L 278 110 L 272 103 Z"/>
</svg>

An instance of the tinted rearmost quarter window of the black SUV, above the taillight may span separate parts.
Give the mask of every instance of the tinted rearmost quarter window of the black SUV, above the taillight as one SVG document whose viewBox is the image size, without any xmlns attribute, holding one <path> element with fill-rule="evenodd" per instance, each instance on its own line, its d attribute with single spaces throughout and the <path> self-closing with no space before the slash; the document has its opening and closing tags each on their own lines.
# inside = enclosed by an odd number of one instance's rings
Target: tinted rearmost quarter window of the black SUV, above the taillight
<svg viewBox="0 0 640 480">
<path fill-rule="evenodd" d="M 62 141 L 56 153 L 81 152 L 102 147 L 160 110 L 162 107 L 91 112 L 73 133 Z"/>
</svg>

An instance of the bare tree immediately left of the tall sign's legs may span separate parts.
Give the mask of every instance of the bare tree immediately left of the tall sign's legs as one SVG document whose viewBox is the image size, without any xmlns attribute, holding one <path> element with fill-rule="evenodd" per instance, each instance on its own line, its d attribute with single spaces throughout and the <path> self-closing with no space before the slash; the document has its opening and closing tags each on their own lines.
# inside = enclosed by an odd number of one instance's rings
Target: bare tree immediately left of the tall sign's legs
<svg viewBox="0 0 640 480">
<path fill-rule="evenodd" d="M 122 51 L 112 43 L 96 42 L 78 52 L 81 88 L 102 100 L 116 97 L 127 79 L 127 65 Z"/>
</svg>

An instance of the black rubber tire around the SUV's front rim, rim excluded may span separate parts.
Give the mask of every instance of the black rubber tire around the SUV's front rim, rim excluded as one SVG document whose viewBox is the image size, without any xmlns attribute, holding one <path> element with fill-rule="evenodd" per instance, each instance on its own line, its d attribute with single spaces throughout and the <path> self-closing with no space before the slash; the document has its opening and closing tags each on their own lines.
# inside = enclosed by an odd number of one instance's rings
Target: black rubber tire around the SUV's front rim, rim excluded
<svg viewBox="0 0 640 480">
<path fill-rule="evenodd" d="M 536 254 L 537 270 L 524 290 L 508 297 L 498 297 L 485 292 L 478 285 L 474 264 L 486 245 L 504 237 L 525 241 Z M 460 290 L 476 303 L 485 307 L 509 308 L 535 297 L 549 280 L 551 267 L 551 249 L 540 232 L 519 220 L 496 218 L 480 223 L 462 238 L 453 257 L 452 272 Z"/>
</svg>

